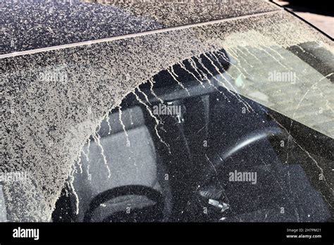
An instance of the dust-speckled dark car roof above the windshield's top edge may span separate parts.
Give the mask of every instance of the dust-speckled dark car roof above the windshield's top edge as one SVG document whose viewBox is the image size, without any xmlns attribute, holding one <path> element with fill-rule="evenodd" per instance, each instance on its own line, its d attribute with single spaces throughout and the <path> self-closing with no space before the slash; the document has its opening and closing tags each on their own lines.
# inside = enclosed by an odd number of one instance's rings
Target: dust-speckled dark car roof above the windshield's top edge
<svg viewBox="0 0 334 245">
<path fill-rule="evenodd" d="M 199 23 L 209 25 L 214 20 L 245 18 L 280 9 L 268 1 L 253 0 L 4 1 L 0 8 L 3 18 L 0 55 L 80 42 L 103 42 L 100 39 Z"/>
</svg>

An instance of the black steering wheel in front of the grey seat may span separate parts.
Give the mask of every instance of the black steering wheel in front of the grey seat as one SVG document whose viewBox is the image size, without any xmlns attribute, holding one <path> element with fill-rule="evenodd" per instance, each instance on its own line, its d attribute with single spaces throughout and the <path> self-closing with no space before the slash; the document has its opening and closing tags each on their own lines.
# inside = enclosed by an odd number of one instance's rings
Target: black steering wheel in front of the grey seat
<svg viewBox="0 0 334 245">
<path fill-rule="evenodd" d="M 89 203 L 89 208 L 85 212 L 83 222 L 92 222 L 94 211 L 99 208 L 102 203 L 106 203 L 118 196 L 127 195 L 146 196 L 149 200 L 154 201 L 155 204 L 144 208 L 135 208 L 130 213 L 126 213 L 126 211 L 113 213 L 104 218 L 102 222 L 134 222 L 136 220 L 147 222 L 161 220 L 163 218 L 164 201 L 159 191 L 142 185 L 126 185 L 106 190 L 95 196 Z"/>
</svg>

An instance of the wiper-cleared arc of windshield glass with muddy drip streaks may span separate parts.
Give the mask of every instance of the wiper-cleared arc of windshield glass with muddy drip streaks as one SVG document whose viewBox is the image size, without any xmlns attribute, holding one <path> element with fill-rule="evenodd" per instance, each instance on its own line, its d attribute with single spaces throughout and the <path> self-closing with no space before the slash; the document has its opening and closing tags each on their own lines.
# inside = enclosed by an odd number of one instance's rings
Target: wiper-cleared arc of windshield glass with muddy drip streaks
<svg viewBox="0 0 334 245">
<path fill-rule="evenodd" d="M 154 75 L 102 120 L 75 168 L 78 196 L 58 205 L 78 202 L 78 221 L 330 220 L 333 67 L 311 59 L 333 54 L 319 49 L 227 47 Z M 104 199 L 128 185 L 159 191 L 160 213 L 135 187 Z"/>
</svg>

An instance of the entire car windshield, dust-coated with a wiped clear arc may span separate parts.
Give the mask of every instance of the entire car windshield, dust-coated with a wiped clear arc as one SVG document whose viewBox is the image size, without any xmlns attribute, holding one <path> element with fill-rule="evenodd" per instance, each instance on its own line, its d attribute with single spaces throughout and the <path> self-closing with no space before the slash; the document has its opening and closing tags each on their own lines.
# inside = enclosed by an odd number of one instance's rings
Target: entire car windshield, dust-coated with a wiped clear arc
<svg viewBox="0 0 334 245">
<path fill-rule="evenodd" d="M 0 220 L 332 219 L 333 42 L 277 9 L 175 26 L 1 57 Z"/>
</svg>

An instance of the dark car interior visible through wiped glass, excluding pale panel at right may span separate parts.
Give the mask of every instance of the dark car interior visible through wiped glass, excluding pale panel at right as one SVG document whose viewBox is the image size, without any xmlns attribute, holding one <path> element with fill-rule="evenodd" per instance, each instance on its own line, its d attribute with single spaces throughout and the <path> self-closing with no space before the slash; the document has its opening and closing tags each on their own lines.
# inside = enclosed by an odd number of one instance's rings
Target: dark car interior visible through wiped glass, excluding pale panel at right
<svg viewBox="0 0 334 245">
<path fill-rule="evenodd" d="M 330 188 L 308 173 L 318 171 L 309 154 L 333 163 L 333 139 L 298 122 L 291 128 L 290 118 L 216 83 L 228 55 L 217 52 L 216 63 L 209 55 L 161 71 L 111 111 L 82 149 L 54 222 L 332 219 L 320 194 Z M 181 113 L 154 114 L 161 103 Z M 256 184 L 231 182 L 236 170 L 256 172 Z"/>
</svg>

